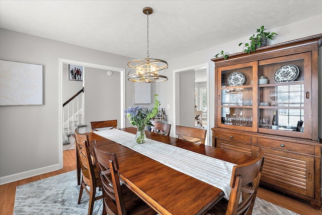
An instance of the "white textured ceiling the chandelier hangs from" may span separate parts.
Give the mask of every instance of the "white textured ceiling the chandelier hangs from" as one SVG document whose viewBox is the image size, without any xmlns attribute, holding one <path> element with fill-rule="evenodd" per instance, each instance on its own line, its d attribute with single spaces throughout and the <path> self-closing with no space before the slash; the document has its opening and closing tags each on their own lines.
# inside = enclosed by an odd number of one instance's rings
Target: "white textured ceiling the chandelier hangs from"
<svg viewBox="0 0 322 215">
<path fill-rule="evenodd" d="M 172 59 L 322 14 L 322 1 L 0 1 L 0 27 L 128 56 Z"/>
</svg>

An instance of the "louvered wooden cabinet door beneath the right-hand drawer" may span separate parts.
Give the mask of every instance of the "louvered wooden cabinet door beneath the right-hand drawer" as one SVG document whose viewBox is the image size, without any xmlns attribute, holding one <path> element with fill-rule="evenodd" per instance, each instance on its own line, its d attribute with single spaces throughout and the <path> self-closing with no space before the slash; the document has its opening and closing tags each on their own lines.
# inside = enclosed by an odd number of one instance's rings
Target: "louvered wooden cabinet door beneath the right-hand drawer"
<svg viewBox="0 0 322 215">
<path fill-rule="evenodd" d="M 264 148 L 261 181 L 314 198 L 314 158 Z"/>
</svg>

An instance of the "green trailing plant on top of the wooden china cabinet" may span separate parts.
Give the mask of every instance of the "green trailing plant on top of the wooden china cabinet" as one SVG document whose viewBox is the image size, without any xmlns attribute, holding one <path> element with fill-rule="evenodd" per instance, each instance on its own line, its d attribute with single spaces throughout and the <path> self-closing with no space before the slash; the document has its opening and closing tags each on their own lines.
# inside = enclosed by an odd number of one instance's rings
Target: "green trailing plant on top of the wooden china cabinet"
<svg viewBox="0 0 322 215">
<path fill-rule="evenodd" d="M 250 37 L 249 43 L 239 43 L 239 46 L 244 44 L 243 51 L 246 53 L 255 52 L 256 48 L 260 47 L 262 44 L 262 39 L 267 38 L 272 40 L 274 35 L 277 35 L 275 32 L 265 32 L 264 26 L 261 26 L 261 28 L 257 29 L 256 35 L 253 34 L 253 36 Z"/>
</svg>

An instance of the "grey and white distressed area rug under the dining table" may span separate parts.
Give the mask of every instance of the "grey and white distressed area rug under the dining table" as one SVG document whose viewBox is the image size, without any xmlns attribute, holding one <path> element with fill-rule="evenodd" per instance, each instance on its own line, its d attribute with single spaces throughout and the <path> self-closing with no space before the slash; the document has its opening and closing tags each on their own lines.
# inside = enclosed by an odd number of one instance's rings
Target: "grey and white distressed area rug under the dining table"
<svg viewBox="0 0 322 215">
<path fill-rule="evenodd" d="M 17 186 L 14 214 L 88 214 L 86 192 L 83 192 L 81 204 L 77 204 L 79 187 L 76 171 Z M 95 201 L 93 214 L 102 214 L 102 205 L 102 199 Z M 252 214 L 297 213 L 257 197 Z"/>
</svg>

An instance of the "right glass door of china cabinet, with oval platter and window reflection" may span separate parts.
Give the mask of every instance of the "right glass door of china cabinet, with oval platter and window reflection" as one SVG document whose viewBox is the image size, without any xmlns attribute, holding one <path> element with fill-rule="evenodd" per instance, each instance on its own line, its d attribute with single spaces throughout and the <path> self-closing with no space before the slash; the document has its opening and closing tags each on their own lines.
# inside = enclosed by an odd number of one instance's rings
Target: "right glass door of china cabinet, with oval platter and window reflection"
<svg viewBox="0 0 322 215">
<path fill-rule="evenodd" d="M 311 138 L 310 59 L 303 53 L 259 61 L 259 132 Z"/>
</svg>

